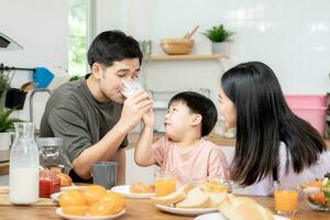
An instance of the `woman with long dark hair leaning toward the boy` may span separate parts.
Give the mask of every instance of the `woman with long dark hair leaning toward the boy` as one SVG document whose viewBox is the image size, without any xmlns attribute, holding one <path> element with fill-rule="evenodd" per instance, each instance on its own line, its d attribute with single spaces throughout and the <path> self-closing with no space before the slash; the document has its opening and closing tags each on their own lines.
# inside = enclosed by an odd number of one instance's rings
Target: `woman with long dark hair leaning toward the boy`
<svg viewBox="0 0 330 220">
<path fill-rule="evenodd" d="M 240 64 L 224 73 L 219 101 L 227 127 L 237 127 L 231 178 L 250 186 L 250 194 L 271 195 L 275 180 L 296 188 L 330 170 L 323 139 L 290 111 L 265 64 Z"/>
</svg>

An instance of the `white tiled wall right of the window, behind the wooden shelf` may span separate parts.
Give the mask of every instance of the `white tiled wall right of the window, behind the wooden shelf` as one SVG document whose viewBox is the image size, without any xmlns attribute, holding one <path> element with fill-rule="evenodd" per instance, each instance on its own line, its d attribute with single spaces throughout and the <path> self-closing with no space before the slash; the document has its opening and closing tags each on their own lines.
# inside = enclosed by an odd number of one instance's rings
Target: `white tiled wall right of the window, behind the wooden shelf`
<svg viewBox="0 0 330 220">
<path fill-rule="evenodd" d="M 97 32 L 120 29 L 139 40 L 151 38 L 158 54 L 161 38 L 180 37 L 195 24 L 200 25 L 200 33 L 223 23 L 235 32 L 230 66 L 265 62 L 275 70 L 285 94 L 324 94 L 330 90 L 329 9 L 328 0 L 98 0 Z M 196 34 L 194 38 L 195 53 L 210 52 L 205 36 Z M 209 62 L 180 63 L 178 68 L 174 64 L 152 65 L 154 77 L 147 86 L 158 88 L 162 84 L 167 89 L 182 87 L 187 75 L 206 82 L 205 74 L 212 74 L 208 81 L 213 88 L 213 79 L 222 72 Z M 190 81 L 186 84 L 191 87 Z"/>
</svg>

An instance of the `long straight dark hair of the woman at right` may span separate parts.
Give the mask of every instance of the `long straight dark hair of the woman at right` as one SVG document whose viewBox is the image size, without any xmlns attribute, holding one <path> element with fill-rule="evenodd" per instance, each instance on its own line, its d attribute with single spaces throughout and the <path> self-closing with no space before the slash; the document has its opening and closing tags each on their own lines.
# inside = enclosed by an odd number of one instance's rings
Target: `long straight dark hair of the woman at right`
<svg viewBox="0 0 330 220">
<path fill-rule="evenodd" d="M 277 180 L 279 142 L 292 156 L 295 173 L 315 164 L 326 151 L 320 134 L 288 108 L 273 70 L 260 62 L 240 64 L 221 78 L 237 108 L 237 146 L 231 178 L 250 186 L 271 174 Z"/>
</svg>

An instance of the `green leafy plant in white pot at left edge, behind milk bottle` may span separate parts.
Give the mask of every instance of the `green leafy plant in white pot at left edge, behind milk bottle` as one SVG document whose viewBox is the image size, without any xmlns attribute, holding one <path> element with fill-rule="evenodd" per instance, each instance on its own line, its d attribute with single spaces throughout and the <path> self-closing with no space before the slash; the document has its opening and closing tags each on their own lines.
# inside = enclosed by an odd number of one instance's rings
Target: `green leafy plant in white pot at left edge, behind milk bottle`
<svg viewBox="0 0 330 220">
<path fill-rule="evenodd" d="M 22 120 L 16 118 L 10 118 L 10 114 L 15 109 L 6 110 L 3 107 L 0 108 L 0 151 L 8 151 L 11 144 L 10 132 L 14 130 L 14 123 L 21 122 Z"/>
</svg>

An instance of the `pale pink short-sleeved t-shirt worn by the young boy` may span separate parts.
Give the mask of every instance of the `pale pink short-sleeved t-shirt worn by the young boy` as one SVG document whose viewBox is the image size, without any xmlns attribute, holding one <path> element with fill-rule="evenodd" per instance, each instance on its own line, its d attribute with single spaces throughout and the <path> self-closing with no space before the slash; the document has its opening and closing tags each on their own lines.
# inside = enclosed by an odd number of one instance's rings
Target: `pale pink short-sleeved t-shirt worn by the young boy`
<svg viewBox="0 0 330 220">
<path fill-rule="evenodd" d="M 175 173 L 178 186 L 184 185 L 187 177 L 196 180 L 229 177 L 221 147 L 204 139 L 191 151 L 182 153 L 175 142 L 164 136 L 153 144 L 152 155 L 162 172 Z"/>
</svg>

